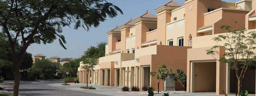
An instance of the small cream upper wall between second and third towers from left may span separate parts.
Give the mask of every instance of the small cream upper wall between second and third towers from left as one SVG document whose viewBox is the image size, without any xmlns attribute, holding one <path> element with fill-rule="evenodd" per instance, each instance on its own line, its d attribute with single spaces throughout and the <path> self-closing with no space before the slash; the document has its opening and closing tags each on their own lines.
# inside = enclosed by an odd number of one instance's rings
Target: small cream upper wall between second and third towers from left
<svg viewBox="0 0 256 96">
<path fill-rule="evenodd" d="M 125 39 L 125 41 L 126 41 L 125 53 L 126 53 L 127 49 L 129 49 L 130 53 L 132 53 L 132 48 L 135 48 L 135 38 L 136 38 L 135 35 L 133 35 L 133 36 L 127 37 Z"/>
</svg>

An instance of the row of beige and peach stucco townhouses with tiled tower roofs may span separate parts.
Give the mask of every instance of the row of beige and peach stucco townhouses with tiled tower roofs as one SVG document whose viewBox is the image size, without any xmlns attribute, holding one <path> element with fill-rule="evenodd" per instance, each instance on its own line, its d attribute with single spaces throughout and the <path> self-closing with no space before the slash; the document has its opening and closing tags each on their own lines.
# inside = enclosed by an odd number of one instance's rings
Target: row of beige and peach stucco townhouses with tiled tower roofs
<svg viewBox="0 0 256 96">
<path fill-rule="evenodd" d="M 79 80 L 106 86 L 151 86 L 156 90 L 158 80 L 149 72 L 165 64 L 175 74 L 177 69 L 187 74 L 188 92 L 233 92 L 233 81 L 229 81 L 232 70 L 205 51 L 215 44 L 213 37 L 226 33 L 220 28 L 223 25 L 254 30 L 255 6 L 256 0 L 185 0 L 185 5 L 167 2 L 154 10 L 157 15 L 146 11 L 108 31 L 105 57 L 100 57 L 89 72 L 80 62 Z M 250 74 L 255 76 L 255 68 L 252 70 Z M 250 83 L 254 84 L 249 87 L 251 92 L 255 92 L 255 77 Z M 175 82 L 176 90 L 184 88 L 181 82 Z M 159 89 L 164 90 L 164 82 Z"/>
</svg>

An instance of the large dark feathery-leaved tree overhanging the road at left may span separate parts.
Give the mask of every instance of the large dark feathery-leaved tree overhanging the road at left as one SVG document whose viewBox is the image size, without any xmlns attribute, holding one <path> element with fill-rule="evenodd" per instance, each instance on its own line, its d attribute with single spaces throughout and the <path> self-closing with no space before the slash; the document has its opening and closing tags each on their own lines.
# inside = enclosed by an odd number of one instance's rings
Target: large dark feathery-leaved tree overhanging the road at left
<svg viewBox="0 0 256 96">
<path fill-rule="evenodd" d="M 0 26 L 7 34 L 12 51 L 15 83 L 13 95 L 18 96 L 20 63 L 31 44 L 53 43 L 58 39 L 66 49 L 62 27 L 75 23 L 74 29 L 98 27 L 107 17 L 123 14 L 107 0 L 0 0 Z M 20 50 L 15 50 L 19 41 Z"/>
</svg>

